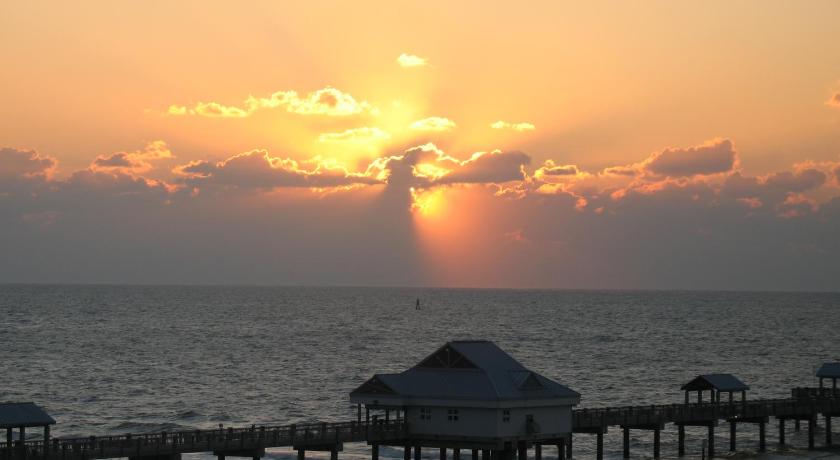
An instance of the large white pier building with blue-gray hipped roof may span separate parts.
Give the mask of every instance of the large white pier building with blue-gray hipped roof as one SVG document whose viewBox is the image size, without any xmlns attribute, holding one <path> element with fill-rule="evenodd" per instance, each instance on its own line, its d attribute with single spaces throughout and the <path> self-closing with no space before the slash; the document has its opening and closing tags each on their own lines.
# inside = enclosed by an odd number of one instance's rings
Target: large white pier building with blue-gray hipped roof
<svg viewBox="0 0 840 460">
<path fill-rule="evenodd" d="M 371 411 L 408 422 L 399 445 L 484 450 L 506 459 L 514 449 L 562 444 L 572 432 L 572 406 L 580 394 L 528 370 L 493 342 L 449 342 L 399 374 L 376 374 L 350 393 Z M 378 445 L 373 444 L 376 451 Z M 374 455 L 376 456 L 376 455 Z M 409 454 L 406 453 L 406 457 Z"/>
</svg>

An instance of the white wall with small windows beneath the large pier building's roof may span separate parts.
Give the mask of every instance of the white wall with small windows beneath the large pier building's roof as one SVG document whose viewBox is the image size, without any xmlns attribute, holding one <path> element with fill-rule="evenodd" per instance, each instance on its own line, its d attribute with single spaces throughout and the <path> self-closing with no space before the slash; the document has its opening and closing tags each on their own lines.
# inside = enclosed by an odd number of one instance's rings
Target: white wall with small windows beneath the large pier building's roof
<svg viewBox="0 0 840 460">
<path fill-rule="evenodd" d="M 407 407 L 406 420 L 412 434 L 442 436 L 524 437 L 527 436 L 527 416 L 533 415 L 540 433 L 569 433 L 572 431 L 571 406 L 510 408 L 510 421 L 503 421 L 503 409 L 464 407 L 426 407 L 431 420 L 421 419 L 421 407 Z M 458 420 L 448 419 L 448 410 L 458 410 Z M 539 437 L 537 435 L 537 437 Z"/>
</svg>

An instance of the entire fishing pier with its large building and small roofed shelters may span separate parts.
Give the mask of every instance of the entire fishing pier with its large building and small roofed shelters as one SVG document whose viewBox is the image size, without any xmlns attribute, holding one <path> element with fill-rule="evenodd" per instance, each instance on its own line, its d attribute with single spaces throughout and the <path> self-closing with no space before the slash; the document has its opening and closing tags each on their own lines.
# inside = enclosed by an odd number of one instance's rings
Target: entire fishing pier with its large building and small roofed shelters
<svg viewBox="0 0 840 460">
<path fill-rule="evenodd" d="M 441 372 L 457 377 L 447 383 L 447 388 L 454 393 L 458 392 L 457 379 L 463 378 L 471 379 L 471 391 L 480 393 L 479 372 L 488 379 L 494 378 L 495 370 L 487 367 L 487 360 L 506 359 L 496 356 L 498 352 L 493 347 L 495 345 L 489 342 L 450 342 L 409 371 L 375 375 L 351 393 L 358 410 L 356 420 L 347 422 L 244 428 L 220 425 L 218 429 L 209 430 L 51 438 L 50 426 L 55 420 L 38 406 L 32 403 L 0 404 L 0 429 L 6 431 L 6 442 L 0 443 L 0 460 L 178 460 L 182 454 L 201 452 L 212 453 L 218 460 L 226 457 L 259 460 L 265 456 L 266 449 L 283 447 L 296 450 L 298 460 L 305 460 L 309 451 L 329 452 L 331 460 L 337 460 L 339 452 L 348 443 L 369 445 L 372 460 L 379 460 L 380 446 L 401 448 L 404 460 L 421 460 L 423 449 L 436 451 L 440 460 L 460 460 L 462 452 L 472 460 L 542 460 L 543 448 L 551 446 L 556 447 L 556 458 L 565 460 L 572 458 L 575 434 L 595 436 L 595 457 L 601 460 L 604 434 L 610 428 L 622 431 L 624 458 L 630 457 L 631 430 L 652 432 L 653 457 L 660 458 L 660 433 L 669 425 L 678 432 L 679 456 L 686 455 L 685 428 L 706 428 L 705 442 L 711 458 L 717 452 L 715 429 L 721 424 L 729 425 L 730 451 L 737 448 L 738 425 L 741 424 L 758 426 L 757 447 L 764 451 L 771 419 L 777 423 L 779 445 L 785 445 L 788 421 L 792 421 L 797 430 L 804 422 L 808 448 L 815 449 L 819 419 L 823 420 L 825 433 L 822 444 L 831 446 L 832 418 L 840 417 L 840 389 L 837 387 L 840 363 L 827 363 L 818 371 L 819 387 L 794 388 L 790 397 L 783 399 L 747 399 L 749 387 L 734 376 L 708 374 L 683 386 L 685 401 L 682 403 L 572 410 L 571 405 L 579 400 L 577 393 L 524 367 L 511 371 L 513 364 L 510 363 L 505 367 L 512 382 L 505 396 L 508 399 L 499 400 L 498 407 L 483 407 L 484 400 L 468 394 L 448 401 L 448 406 L 442 409 L 432 405 L 440 402 L 416 399 L 419 403 L 414 408 L 402 399 L 410 391 L 425 391 L 417 389 L 417 382 L 436 381 L 434 379 L 441 378 Z M 406 384 L 411 387 L 405 387 Z M 522 403 L 509 397 L 515 394 L 513 389 L 530 395 L 531 399 Z M 708 393 L 706 401 L 703 400 L 705 393 Z M 728 398 L 722 400 L 721 395 Z M 517 418 L 520 409 L 521 418 Z M 470 411 L 479 418 L 471 419 Z M 498 414 L 498 422 L 486 425 L 489 428 L 476 428 L 490 418 L 488 414 Z M 543 417 L 544 414 L 560 420 Z M 43 429 L 43 438 L 26 440 L 27 428 Z M 13 437 L 14 430 L 19 430 L 17 440 Z"/>
</svg>

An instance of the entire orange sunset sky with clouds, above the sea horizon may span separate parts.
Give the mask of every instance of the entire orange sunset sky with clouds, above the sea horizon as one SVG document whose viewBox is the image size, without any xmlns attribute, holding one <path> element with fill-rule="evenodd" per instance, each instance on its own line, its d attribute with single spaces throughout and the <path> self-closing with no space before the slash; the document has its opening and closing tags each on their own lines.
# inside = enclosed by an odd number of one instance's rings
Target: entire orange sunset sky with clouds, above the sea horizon
<svg viewBox="0 0 840 460">
<path fill-rule="evenodd" d="M 0 282 L 838 290 L 838 17 L 9 3 Z"/>
</svg>

